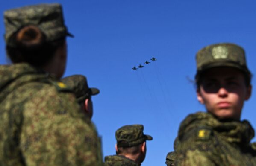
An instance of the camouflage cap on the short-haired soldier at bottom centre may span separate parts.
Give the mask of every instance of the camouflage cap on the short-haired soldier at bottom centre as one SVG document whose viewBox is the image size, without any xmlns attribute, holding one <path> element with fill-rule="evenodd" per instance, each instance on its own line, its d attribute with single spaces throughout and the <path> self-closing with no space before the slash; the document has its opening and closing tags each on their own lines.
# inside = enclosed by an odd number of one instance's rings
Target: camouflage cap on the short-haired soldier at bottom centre
<svg viewBox="0 0 256 166">
<path fill-rule="evenodd" d="M 115 132 L 118 147 L 131 147 L 153 140 L 150 135 L 143 133 L 143 125 L 125 125 Z"/>
</svg>

